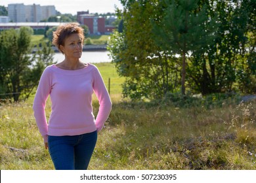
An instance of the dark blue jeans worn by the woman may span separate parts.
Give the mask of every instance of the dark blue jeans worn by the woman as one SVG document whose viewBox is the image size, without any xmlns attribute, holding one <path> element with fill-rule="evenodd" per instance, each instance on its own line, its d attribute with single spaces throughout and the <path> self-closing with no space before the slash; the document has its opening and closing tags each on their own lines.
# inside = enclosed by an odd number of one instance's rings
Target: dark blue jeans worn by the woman
<svg viewBox="0 0 256 183">
<path fill-rule="evenodd" d="M 56 170 L 86 170 L 97 141 L 97 131 L 74 136 L 48 137 Z"/>
</svg>

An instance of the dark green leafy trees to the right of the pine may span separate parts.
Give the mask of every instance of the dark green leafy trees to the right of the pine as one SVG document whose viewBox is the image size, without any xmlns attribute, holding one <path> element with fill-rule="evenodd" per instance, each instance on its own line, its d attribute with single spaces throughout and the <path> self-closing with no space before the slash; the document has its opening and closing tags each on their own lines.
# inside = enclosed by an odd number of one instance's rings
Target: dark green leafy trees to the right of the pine
<svg viewBox="0 0 256 183">
<path fill-rule="evenodd" d="M 217 16 L 216 39 L 188 65 L 190 88 L 209 93 L 256 91 L 255 2 L 201 1 L 209 18 Z M 254 67 L 254 69 L 253 69 Z"/>
</svg>

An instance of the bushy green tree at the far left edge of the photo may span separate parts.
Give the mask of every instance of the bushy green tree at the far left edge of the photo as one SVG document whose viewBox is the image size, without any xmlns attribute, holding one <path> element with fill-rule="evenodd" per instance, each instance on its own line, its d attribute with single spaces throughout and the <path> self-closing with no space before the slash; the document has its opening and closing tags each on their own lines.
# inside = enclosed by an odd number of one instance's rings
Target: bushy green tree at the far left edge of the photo
<svg viewBox="0 0 256 183">
<path fill-rule="evenodd" d="M 27 65 L 30 65 L 31 31 L 28 27 L 21 27 L 18 32 L 14 29 L 1 33 L 0 54 L 3 73 L 1 80 L 5 80 L 7 92 L 12 93 L 14 101 L 18 101 L 22 92 L 22 75 Z"/>
</svg>

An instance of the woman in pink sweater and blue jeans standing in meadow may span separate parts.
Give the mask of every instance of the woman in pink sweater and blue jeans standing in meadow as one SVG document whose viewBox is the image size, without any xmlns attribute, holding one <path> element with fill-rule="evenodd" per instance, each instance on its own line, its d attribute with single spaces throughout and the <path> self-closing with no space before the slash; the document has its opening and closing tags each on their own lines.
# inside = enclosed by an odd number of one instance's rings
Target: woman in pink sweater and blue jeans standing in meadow
<svg viewBox="0 0 256 183">
<path fill-rule="evenodd" d="M 33 102 L 35 120 L 55 169 L 87 169 L 97 133 L 112 108 L 98 69 L 79 59 L 83 40 L 83 29 L 76 23 L 61 25 L 53 33 L 53 44 L 65 59 L 43 71 Z M 93 92 L 100 104 L 96 119 Z M 45 103 L 49 95 L 52 111 L 47 124 Z"/>
</svg>

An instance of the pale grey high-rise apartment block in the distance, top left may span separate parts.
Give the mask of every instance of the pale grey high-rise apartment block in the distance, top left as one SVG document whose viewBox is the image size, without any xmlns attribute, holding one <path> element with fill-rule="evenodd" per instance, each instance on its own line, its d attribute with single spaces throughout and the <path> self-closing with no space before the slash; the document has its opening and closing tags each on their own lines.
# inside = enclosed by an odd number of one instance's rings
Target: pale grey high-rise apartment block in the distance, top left
<svg viewBox="0 0 256 183">
<path fill-rule="evenodd" d="M 40 22 L 56 15 L 54 6 L 9 4 L 8 16 L 11 22 Z"/>
</svg>

